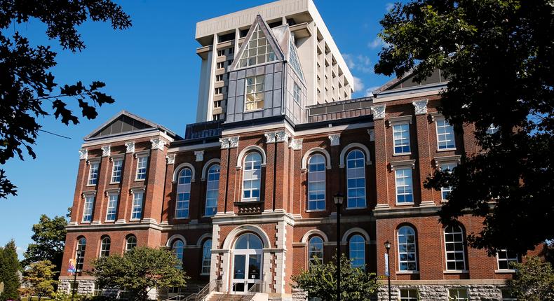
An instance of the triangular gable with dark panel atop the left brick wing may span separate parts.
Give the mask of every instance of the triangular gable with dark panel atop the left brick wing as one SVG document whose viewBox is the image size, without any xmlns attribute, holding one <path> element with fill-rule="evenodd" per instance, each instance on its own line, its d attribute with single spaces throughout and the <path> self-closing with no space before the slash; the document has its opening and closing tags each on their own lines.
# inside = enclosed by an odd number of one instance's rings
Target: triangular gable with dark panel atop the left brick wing
<svg viewBox="0 0 554 301">
<path fill-rule="evenodd" d="M 107 120 L 107 122 L 100 125 L 100 127 L 97 127 L 95 130 L 93 130 L 93 132 L 88 134 L 85 137 L 85 140 L 108 137 L 117 134 L 125 134 L 129 132 L 140 132 L 149 129 L 162 130 L 166 134 L 175 137 L 175 134 L 173 132 L 167 130 L 161 125 L 156 125 L 156 123 L 152 123 L 149 120 L 136 116 L 127 111 L 121 111 L 117 113 L 114 117 Z"/>
</svg>

